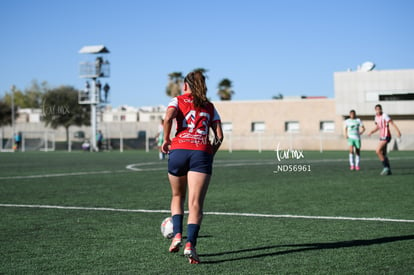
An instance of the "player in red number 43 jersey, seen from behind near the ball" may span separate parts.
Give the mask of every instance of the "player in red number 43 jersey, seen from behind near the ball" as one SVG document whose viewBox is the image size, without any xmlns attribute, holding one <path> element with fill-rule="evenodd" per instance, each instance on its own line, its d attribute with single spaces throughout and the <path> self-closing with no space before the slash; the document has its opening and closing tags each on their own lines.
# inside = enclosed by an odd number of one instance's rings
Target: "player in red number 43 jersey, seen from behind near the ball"
<svg viewBox="0 0 414 275">
<path fill-rule="evenodd" d="M 173 240 L 170 252 L 178 252 L 182 243 L 184 201 L 188 188 L 187 242 L 184 255 L 191 264 L 200 263 L 196 253 L 197 236 L 203 217 L 204 198 L 212 174 L 213 157 L 223 141 L 220 116 L 206 97 L 204 75 L 191 72 L 184 78 L 184 93 L 173 98 L 164 119 L 162 150 L 169 153 L 168 178 L 171 185 Z M 173 120 L 177 132 L 171 140 Z M 213 130 L 213 143 L 209 129 Z"/>
</svg>

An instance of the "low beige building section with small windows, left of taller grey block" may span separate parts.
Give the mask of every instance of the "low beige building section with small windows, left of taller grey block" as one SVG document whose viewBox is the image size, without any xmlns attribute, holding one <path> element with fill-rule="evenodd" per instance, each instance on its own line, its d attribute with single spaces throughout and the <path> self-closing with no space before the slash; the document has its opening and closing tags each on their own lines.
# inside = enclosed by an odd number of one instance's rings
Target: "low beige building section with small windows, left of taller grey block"
<svg viewBox="0 0 414 275">
<path fill-rule="evenodd" d="M 276 150 L 280 148 L 333 150 L 342 145 L 342 116 L 335 100 L 283 99 L 221 101 L 220 113 L 226 150 Z M 342 147 L 343 148 L 343 147 Z"/>
</svg>

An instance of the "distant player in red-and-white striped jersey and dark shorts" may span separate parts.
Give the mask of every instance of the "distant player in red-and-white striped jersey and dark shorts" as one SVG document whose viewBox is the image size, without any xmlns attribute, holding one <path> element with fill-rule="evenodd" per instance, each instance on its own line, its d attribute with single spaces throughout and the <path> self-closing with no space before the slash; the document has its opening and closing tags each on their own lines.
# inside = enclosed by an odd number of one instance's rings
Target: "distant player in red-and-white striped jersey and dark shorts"
<svg viewBox="0 0 414 275">
<path fill-rule="evenodd" d="M 401 137 L 401 132 L 398 129 L 397 125 L 391 120 L 391 118 L 382 112 L 382 106 L 380 104 L 375 105 L 375 128 L 368 133 L 368 136 L 371 136 L 373 133 L 380 132 L 380 140 L 378 147 L 375 150 L 379 160 L 382 162 L 384 169 L 381 172 L 382 176 L 391 175 L 390 161 L 387 157 L 387 144 L 391 140 L 391 132 L 389 125 L 391 124 L 394 129 L 397 131 L 397 136 Z"/>
</svg>

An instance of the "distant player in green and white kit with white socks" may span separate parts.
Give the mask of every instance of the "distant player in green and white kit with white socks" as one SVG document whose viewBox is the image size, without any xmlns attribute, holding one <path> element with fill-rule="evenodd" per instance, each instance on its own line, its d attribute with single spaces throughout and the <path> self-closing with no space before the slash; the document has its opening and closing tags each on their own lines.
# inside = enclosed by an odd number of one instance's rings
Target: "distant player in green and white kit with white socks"
<svg viewBox="0 0 414 275">
<path fill-rule="evenodd" d="M 351 170 L 359 170 L 361 156 L 361 135 L 365 132 L 362 121 L 356 117 L 355 110 L 349 112 L 349 118 L 345 120 L 345 137 L 349 145 L 349 166 Z M 354 152 L 355 149 L 355 152 Z"/>
</svg>

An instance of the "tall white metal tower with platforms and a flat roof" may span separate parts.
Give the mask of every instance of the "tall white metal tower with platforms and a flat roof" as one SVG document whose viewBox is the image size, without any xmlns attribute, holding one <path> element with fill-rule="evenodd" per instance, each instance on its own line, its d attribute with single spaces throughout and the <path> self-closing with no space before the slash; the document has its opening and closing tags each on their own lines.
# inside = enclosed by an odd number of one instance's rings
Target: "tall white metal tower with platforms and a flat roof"
<svg viewBox="0 0 414 275">
<path fill-rule="evenodd" d="M 103 59 L 102 54 L 109 53 L 109 50 L 103 46 L 84 46 L 80 49 L 79 53 L 93 54 L 96 58 L 91 61 L 84 61 L 80 63 L 80 77 L 90 79 L 92 85 L 86 80 L 85 89 L 79 91 L 79 104 L 91 105 L 91 140 L 90 149 L 92 151 L 98 151 L 96 146 L 96 134 L 97 134 L 97 119 L 96 109 L 97 106 L 103 106 L 108 103 L 107 91 L 105 91 L 105 100 L 101 96 L 102 84 L 99 78 L 109 77 L 110 68 L 109 61 Z M 106 84 L 107 85 L 107 84 Z M 108 86 L 109 88 L 109 86 Z M 109 90 L 109 89 L 108 89 Z"/>
</svg>

